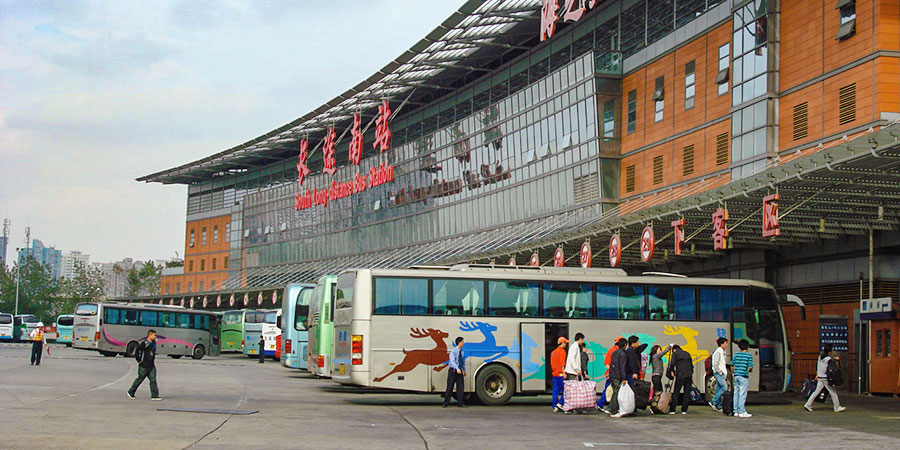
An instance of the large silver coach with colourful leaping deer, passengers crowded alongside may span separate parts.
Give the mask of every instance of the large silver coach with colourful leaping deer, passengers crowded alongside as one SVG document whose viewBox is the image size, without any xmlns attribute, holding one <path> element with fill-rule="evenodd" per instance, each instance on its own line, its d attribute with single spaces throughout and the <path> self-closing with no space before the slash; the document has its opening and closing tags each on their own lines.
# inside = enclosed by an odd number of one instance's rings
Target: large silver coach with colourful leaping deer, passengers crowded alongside
<svg viewBox="0 0 900 450">
<path fill-rule="evenodd" d="M 784 390 L 790 375 L 778 296 L 758 281 L 619 269 L 362 269 L 338 277 L 334 301 L 332 376 L 341 384 L 442 392 L 448 349 L 462 336 L 466 392 L 502 405 L 513 394 L 548 392 L 544 361 L 559 336 L 578 332 L 594 355 L 594 379 L 605 378 L 614 341 L 631 335 L 650 344 L 646 351 L 680 345 L 701 390 L 710 391 L 703 362 L 720 336 L 749 341 L 751 391 Z"/>
</svg>

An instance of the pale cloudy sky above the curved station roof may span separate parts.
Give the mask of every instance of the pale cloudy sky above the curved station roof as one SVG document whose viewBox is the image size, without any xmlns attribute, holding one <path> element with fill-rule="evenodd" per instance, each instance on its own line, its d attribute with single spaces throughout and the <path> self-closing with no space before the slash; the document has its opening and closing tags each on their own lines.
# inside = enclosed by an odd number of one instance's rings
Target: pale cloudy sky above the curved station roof
<svg viewBox="0 0 900 450">
<path fill-rule="evenodd" d="M 7 258 L 26 226 L 94 262 L 182 255 L 187 188 L 135 178 L 304 115 L 461 4 L 0 0 Z"/>
</svg>

